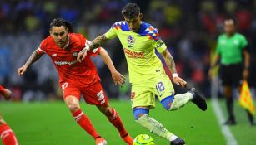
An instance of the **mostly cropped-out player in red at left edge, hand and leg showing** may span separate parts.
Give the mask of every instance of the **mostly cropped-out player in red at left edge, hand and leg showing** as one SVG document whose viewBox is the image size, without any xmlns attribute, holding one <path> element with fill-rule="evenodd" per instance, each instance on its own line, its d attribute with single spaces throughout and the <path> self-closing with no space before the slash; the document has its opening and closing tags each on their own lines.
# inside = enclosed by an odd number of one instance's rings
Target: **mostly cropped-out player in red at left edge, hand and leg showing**
<svg viewBox="0 0 256 145">
<path fill-rule="evenodd" d="M 12 92 L 9 89 L 3 88 L 0 85 L 0 94 L 3 95 L 4 99 L 10 99 Z M 13 130 L 8 126 L 8 124 L 3 120 L 0 115 L 0 136 L 2 138 L 3 145 L 18 145 L 17 139 Z"/>
</svg>

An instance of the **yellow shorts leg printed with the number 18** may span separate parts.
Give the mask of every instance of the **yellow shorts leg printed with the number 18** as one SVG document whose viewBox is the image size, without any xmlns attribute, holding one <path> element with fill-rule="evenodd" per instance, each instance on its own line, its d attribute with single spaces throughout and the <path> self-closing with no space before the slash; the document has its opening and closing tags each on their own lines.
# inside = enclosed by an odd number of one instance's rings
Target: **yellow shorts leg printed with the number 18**
<svg viewBox="0 0 256 145">
<path fill-rule="evenodd" d="M 168 75 L 163 75 L 155 82 L 154 93 L 161 101 L 174 94 L 173 84 Z"/>
</svg>

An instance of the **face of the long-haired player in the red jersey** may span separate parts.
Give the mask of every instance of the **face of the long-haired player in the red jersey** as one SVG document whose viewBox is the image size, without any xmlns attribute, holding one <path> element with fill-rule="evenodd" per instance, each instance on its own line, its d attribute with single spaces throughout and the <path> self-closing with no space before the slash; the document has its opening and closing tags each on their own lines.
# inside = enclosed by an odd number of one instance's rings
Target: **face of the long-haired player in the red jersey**
<svg viewBox="0 0 256 145">
<path fill-rule="evenodd" d="M 68 31 L 65 27 L 52 27 L 52 30 L 50 31 L 51 36 L 53 36 L 53 40 L 55 43 L 63 48 L 68 43 Z"/>
</svg>

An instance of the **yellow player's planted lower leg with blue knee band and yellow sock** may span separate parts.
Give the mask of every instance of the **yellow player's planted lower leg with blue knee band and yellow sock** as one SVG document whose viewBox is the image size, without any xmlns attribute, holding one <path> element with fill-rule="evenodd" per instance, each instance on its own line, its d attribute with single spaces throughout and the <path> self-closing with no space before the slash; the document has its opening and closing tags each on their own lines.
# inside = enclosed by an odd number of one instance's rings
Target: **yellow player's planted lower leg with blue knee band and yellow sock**
<svg viewBox="0 0 256 145">
<path fill-rule="evenodd" d="M 151 133 L 167 139 L 171 145 L 183 145 L 184 141 L 173 133 L 169 132 L 157 120 L 149 117 L 149 109 L 137 107 L 133 109 L 133 115 L 137 123 L 147 128 Z M 178 144 L 179 143 L 179 144 Z"/>
</svg>

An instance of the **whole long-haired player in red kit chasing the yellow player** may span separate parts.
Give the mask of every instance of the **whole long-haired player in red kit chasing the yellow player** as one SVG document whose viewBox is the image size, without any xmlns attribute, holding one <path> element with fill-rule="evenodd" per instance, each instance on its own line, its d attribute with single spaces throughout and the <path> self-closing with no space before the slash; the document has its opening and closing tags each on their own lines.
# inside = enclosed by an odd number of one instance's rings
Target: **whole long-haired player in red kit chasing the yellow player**
<svg viewBox="0 0 256 145">
<path fill-rule="evenodd" d="M 107 51 L 102 47 L 89 51 L 85 60 L 78 62 L 78 52 L 88 46 L 90 41 L 81 34 L 72 33 L 72 31 L 73 29 L 69 22 L 62 18 L 53 19 L 50 24 L 50 36 L 44 39 L 38 49 L 28 58 L 27 62 L 18 68 L 18 75 L 23 75 L 29 65 L 32 65 L 43 54 L 47 54 L 53 60 L 53 64 L 58 71 L 59 84 L 63 90 L 63 99 L 73 114 L 73 118 L 95 139 L 96 145 L 105 145 L 107 142 L 97 133 L 89 118 L 80 109 L 79 100 L 81 94 L 83 94 L 83 99 L 87 104 L 96 105 L 107 116 L 109 122 L 118 129 L 123 141 L 128 145 L 132 145 L 133 138 L 123 127 L 117 111 L 108 104 L 107 96 L 100 84 L 100 78 L 90 56 L 101 56 L 105 64 L 108 65 L 115 85 L 122 85 L 125 78 L 115 69 Z"/>
</svg>

